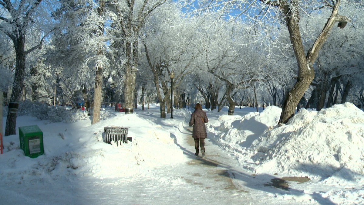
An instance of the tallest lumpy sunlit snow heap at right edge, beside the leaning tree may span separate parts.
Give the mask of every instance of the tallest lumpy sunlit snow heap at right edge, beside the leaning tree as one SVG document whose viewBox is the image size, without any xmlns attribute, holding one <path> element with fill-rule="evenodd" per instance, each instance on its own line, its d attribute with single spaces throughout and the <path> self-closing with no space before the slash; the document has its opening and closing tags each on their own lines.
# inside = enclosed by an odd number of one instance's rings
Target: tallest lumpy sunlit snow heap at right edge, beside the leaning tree
<svg viewBox="0 0 364 205">
<path fill-rule="evenodd" d="M 351 103 L 319 112 L 302 109 L 286 125 L 253 143 L 257 172 L 323 176 L 347 169 L 363 174 L 364 112 Z"/>
</svg>

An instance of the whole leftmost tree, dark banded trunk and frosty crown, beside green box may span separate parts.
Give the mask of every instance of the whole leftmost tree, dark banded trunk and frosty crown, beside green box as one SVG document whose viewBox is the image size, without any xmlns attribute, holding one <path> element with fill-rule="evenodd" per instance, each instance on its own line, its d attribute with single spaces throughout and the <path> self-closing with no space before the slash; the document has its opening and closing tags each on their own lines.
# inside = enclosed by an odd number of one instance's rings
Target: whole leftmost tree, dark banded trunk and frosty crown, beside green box
<svg viewBox="0 0 364 205">
<path fill-rule="evenodd" d="M 12 41 L 16 57 L 5 136 L 15 134 L 17 108 L 24 86 L 25 58 L 41 47 L 44 38 L 50 32 L 50 11 L 56 5 L 57 3 L 51 0 L 0 0 L 0 32 Z"/>
</svg>

